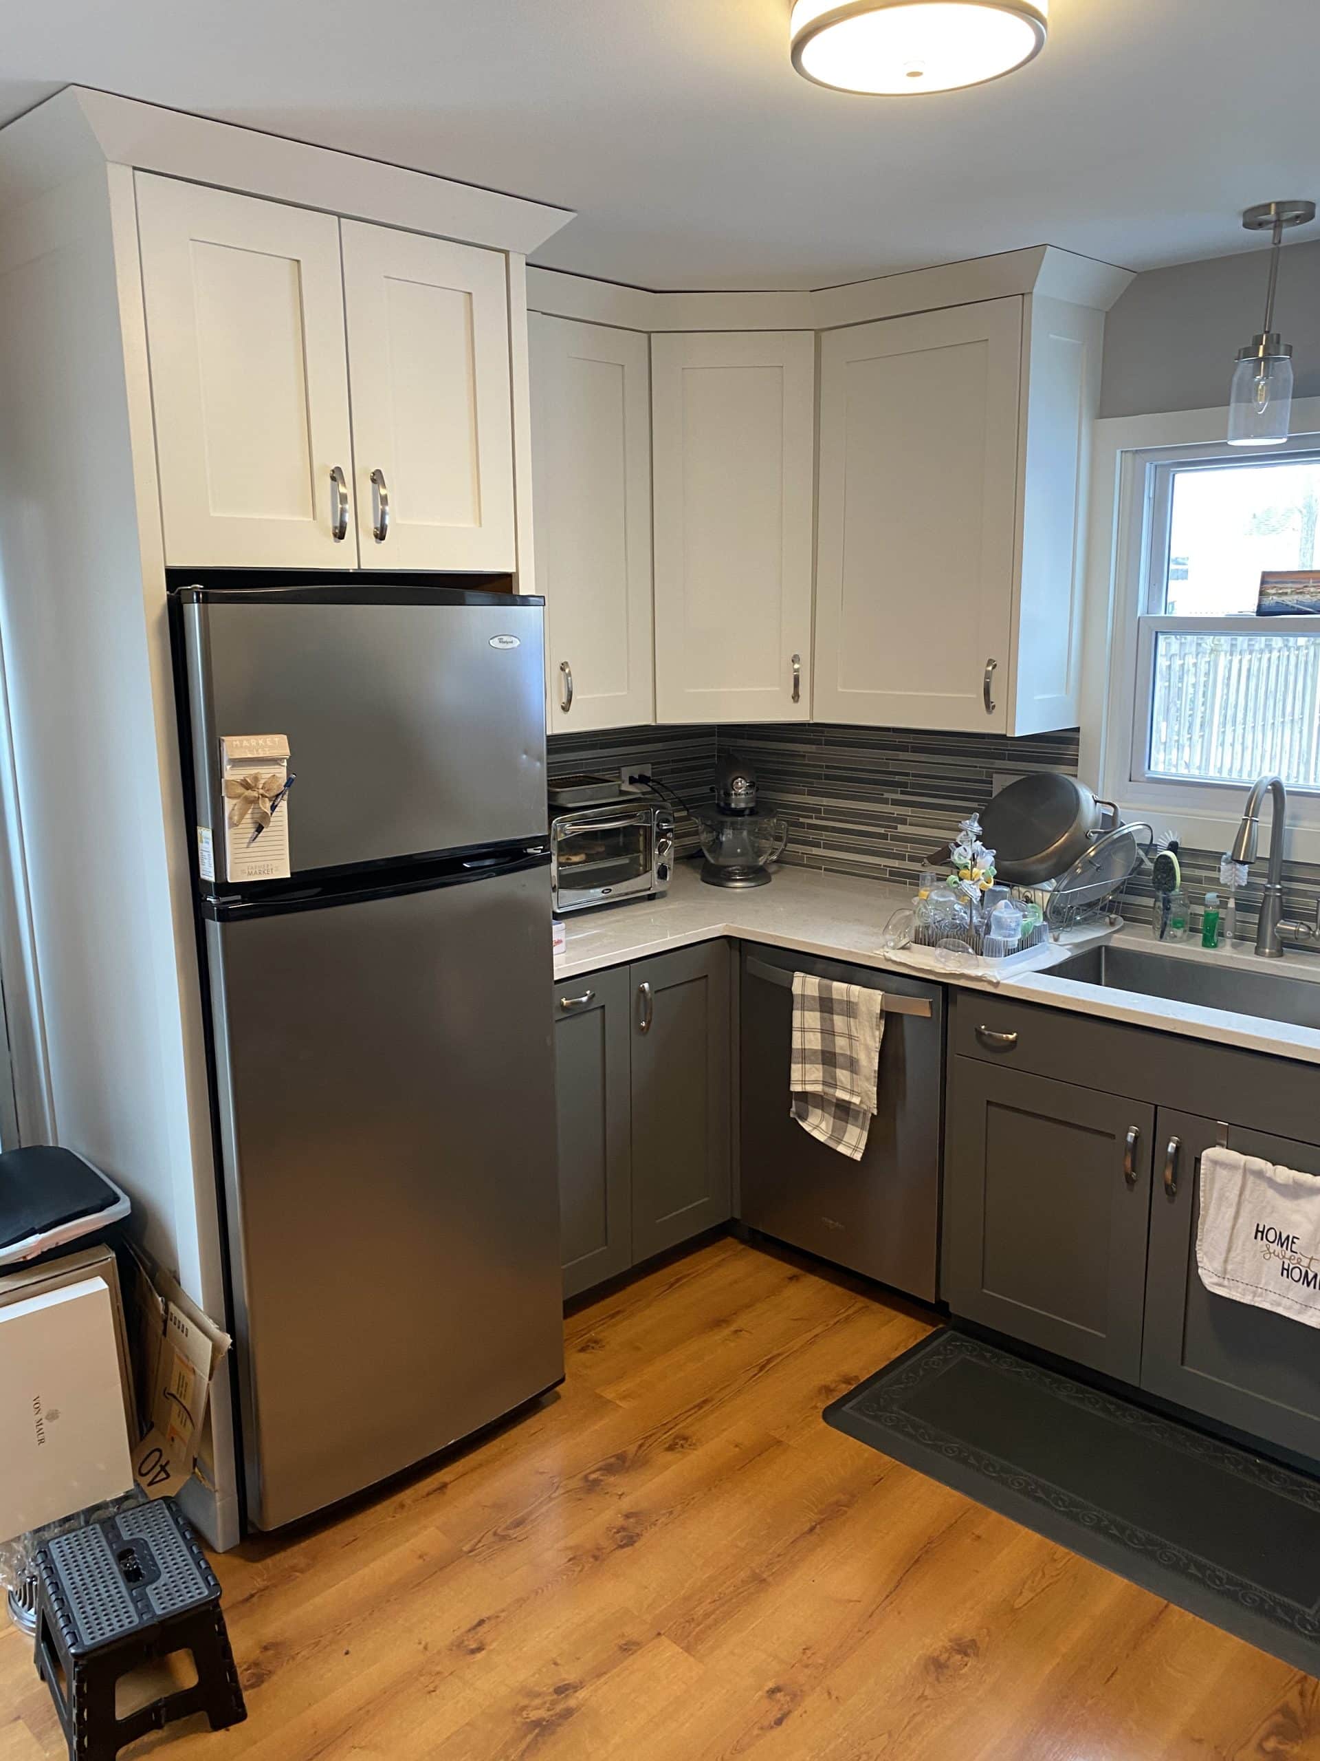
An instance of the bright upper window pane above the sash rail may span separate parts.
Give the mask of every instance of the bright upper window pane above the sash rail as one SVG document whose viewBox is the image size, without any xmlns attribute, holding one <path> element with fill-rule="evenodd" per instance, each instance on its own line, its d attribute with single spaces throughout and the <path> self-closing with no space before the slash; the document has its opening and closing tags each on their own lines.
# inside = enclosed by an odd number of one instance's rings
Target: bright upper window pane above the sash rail
<svg viewBox="0 0 1320 1761">
<path fill-rule="evenodd" d="M 1223 618 L 1257 609 L 1262 569 L 1315 569 L 1320 460 L 1176 470 L 1165 611 Z"/>
</svg>

